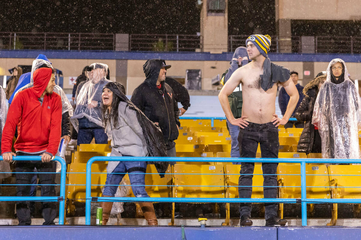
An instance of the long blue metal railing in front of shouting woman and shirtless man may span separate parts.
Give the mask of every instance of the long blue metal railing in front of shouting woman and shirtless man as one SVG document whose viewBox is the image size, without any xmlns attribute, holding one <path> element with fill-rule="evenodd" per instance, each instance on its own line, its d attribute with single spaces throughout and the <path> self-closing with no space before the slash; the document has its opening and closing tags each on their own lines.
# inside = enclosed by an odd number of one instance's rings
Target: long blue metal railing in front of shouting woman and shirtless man
<svg viewBox="0 0 361 240">
<path fill-rule="evenodd" d="M 361 199 L 308 199 L 306 197 L 306 163 L 361 163 L 361 159 L 300 159 L 300 158 L 182 158 L 152 157 L 159 162 L 258 162 L 258 163 L 300 163 L 301 199 L 296 198 L 134 198 L 134 197 L 91 197 L 91 165 L 95 161 L 149 161 L 149 157 L 92 157 L 87 162 L 85 224 L 90 225 L 91 201 L 130 202 L 183 202 L 183 203 L 301 203 L 302 226 L 307 226 L 307 203 L 361 203 Z"/>
</svg>

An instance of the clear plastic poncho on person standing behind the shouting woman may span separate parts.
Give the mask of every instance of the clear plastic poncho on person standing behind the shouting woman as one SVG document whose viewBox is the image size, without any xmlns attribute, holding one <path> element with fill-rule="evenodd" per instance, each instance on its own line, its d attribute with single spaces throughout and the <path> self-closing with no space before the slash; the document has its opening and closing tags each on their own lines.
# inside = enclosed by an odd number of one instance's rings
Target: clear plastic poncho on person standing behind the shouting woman
<svg viewBox="0 0 361 240">
<path fill-rule="evenodd" d="M 86 117 L 90 122 L 103 127 L 101 114 L 101 94 L 103 87 L 110 80 L 106 79 L 108 65 L 93 63 L 87 68 L 89 81 L 84 83 L 77 96 L 77 107 L 73 117 L 70 118 L 74 128 L 78 119 Z M 78 128 L 75 128 L 78 131 Z"/>
</svg>

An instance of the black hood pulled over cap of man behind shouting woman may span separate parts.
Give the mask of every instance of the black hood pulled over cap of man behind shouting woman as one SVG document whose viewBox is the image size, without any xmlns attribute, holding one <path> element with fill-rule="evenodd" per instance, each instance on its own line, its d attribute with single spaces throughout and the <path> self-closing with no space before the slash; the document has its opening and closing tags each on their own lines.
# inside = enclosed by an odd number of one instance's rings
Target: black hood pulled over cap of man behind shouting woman
<svg viewBox="0 0 361 240">
<path fill-rule="evenodd" d="M 160 69 L 162 67 L 170 68 L 170 65 L 165 64 L 165 60 L 163 59 L 148 59 L 147 62 L 143 65 L 143 72 L 145 73 L 145 82 L 150 85 L 156 87 L 158 76 Z M 164 84 L 162 84 L 162 88 Z"/>
</svg>

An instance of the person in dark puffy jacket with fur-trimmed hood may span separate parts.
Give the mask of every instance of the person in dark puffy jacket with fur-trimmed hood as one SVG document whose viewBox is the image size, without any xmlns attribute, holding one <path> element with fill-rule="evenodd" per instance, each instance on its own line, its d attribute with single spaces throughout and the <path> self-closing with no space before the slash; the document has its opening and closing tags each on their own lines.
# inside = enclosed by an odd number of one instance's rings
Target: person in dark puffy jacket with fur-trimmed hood
<svg viewBox="0 0 361 240">
<path fill-rule="evenodd" d="M 295 113 L 298 121 L 305 122 L 297 145 L 297 152 L 306 154 L 321 153 L 321 136 L 319 135 L 318 128 L 312 124 L 312 114 L 318 91 L 325 81 L 326 72 L 320 72 L 303 89 L 304 99 Z"/>
</svg>

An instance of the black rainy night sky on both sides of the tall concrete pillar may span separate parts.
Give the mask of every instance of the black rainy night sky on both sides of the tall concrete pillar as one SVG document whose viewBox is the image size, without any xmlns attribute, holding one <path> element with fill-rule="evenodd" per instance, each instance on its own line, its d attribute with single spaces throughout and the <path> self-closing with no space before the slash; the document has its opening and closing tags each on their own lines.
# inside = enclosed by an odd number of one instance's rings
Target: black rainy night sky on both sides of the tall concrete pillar
<svg viewBox="0 0 361 240">
<path fill-rule="evenodd" d="M 196 34 L 200 29 L 197 0 L 0 2 L 4 32 Z M 229 0 L 228 10 L 229 34 L 276 33 L 274 1 Z"/>
</svg>

